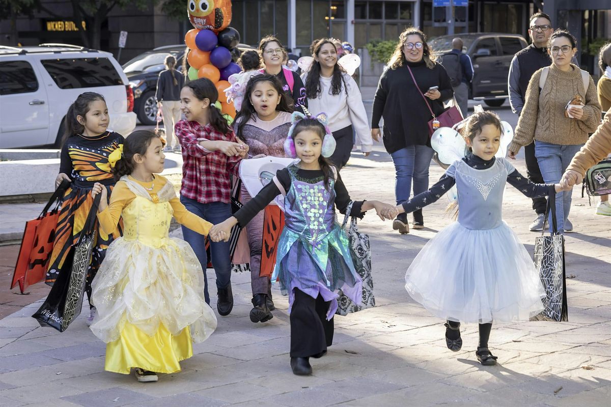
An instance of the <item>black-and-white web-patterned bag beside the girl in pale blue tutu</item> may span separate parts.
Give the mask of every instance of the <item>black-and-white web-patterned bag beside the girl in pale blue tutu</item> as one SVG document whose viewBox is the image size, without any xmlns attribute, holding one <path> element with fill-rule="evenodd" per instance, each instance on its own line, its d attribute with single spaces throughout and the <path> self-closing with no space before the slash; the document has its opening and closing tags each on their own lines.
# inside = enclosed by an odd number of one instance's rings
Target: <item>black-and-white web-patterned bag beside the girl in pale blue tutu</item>
<svg viewBox="0 0 611 407">
<path fill-rule="evenodd" d="M 547 215 L 552 212 L 552 233 L 546 231 Z M 565 237 L 558 233 L 556 223 L 555 195 L 547 199 L 547 210 L 541 237 L 535 239 L 535 267 L 545 289 L 543 311 L 530 318 L 534 321 L 568 321 L 566 300 Z"/>
</svg>

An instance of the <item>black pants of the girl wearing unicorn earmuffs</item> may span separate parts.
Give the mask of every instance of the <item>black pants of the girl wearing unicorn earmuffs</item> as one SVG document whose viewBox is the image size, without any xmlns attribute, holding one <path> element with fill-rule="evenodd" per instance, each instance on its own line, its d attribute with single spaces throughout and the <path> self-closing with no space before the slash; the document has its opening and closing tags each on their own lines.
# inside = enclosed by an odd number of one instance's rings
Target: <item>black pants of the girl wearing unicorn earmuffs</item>
<svg viewBox="0 0 611 407">
<path fill-rule="evenodd" d="M 330 302 L 314 299 L 295 289 L 291 308 L 291 358 L 307 358 L 327 350 L 333 343 L 333 319 L 327 321 Z"/>
</svg>

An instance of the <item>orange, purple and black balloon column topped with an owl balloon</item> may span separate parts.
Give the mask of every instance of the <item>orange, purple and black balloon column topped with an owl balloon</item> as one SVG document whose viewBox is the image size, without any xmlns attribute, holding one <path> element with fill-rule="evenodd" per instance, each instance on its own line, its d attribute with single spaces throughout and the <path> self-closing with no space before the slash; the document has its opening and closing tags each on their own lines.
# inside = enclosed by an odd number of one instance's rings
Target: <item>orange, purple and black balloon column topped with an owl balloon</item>
<svg viewBox="0 0 611 407">
<path fill-rule="evenodd" d="M 231 0 L 189 0 L 189 20 L 193 29 L 185 35 L 189 48 L 187 61 L 191 66 L 188 76 L 191 81 L 207 77 L 219 91 L 221 112 L 235 117 L 235 108 L 227 102 L 225 88 L 230 87 L 229 76 L 241 71 L 236 60 L 240 50 L 240 33 L 229 27 L 231 22 Z"/>
</svg>

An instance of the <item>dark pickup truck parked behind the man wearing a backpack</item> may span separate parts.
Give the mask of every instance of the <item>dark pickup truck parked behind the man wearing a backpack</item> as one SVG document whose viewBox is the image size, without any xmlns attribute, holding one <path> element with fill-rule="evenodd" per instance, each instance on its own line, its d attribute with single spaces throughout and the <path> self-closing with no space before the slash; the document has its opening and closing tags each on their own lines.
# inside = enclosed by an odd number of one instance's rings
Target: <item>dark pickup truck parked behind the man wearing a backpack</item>
<svg viewBox="0 0 611 407">
<path fill-rule="evenodd" d="M 429 45 L 437 55 L 452 50 L 453 38 L 463 40 L 463 52 L 471 57 L 474 76 L 469 98 L 493 107 L 501 106 L 508 97 L 507 77 L 514 54 L 527 46 L 522 35 L 478 32 L 444 35 L 433 38 Z"/>
</svg>

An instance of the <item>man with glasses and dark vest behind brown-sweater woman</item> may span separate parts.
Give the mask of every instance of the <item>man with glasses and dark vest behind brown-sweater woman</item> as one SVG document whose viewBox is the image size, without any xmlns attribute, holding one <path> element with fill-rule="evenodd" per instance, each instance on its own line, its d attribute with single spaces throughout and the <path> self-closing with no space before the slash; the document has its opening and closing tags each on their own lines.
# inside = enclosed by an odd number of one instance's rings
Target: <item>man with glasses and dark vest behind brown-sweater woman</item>
<svg viewBox="0 0 611 407">
<path fill-rule="evenodd" d="M 543 67 L 549 67 L 552 60 L 547 54 L 547 40 L 554 32 L 552 22 L 546 13 L 535 13 L 530 17 L 529 35 L 532 43 L 526 48 L 518 51 L 511 60 L 509 68 L 509 102 L 511 110 L 518 115 L 524 107 L 526 89 L 529 86 L 530 78 L 533 74 Z M 577 64 L 577 60 L 572 61 Z M 526 159 L 527 175 L 530 181 L 536 184 L 543 184 L 543 176 L 535 157 L 535 143 L 524 147 Z M 533 198 L 533 209 L 536 212 L 536 219 L 530 224 L 530 231 L 543 230 L 545 220 L 545 209 L 547 201 L 545 198 Z"/>
</svg>

